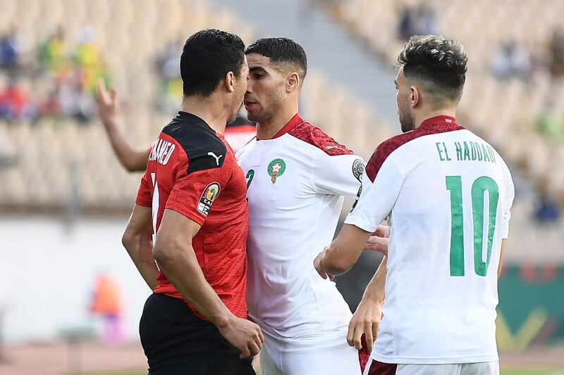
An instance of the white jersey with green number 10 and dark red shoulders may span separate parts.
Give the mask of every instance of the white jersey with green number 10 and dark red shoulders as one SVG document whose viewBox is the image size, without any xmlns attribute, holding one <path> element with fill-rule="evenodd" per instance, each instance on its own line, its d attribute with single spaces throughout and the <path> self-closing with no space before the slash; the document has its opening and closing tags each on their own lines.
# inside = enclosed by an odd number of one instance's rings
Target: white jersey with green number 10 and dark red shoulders
<svg viewBox="0 0 564 375">
<path fill-rule="evenodd" d="M 453 117 L 376 148 L 345 220 L 374 231 L 388 217 L 391 227 L 375 360 L 498 360 L 497 270 L 514 195 L 500 155 Z"/>
</svg>

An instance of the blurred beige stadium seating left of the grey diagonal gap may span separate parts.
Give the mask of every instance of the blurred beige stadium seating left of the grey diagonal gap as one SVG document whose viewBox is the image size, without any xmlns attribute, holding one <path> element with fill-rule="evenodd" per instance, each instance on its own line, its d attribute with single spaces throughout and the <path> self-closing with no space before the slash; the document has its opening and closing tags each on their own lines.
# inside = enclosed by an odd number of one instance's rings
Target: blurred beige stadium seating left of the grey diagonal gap
<svg viewBox="0 0 564 375">
<path fill-rule="evenodd" d="M 111 84 L 126 101 L 125 131 L 135 144 L 148 145 L 171 116 L 154 108 L 159 78 L 153 65 L 166 41 L 183 42 L 188 35 L 208 27 L 235 32 L 246 43 L 257 34 L 228 11 L 212 8 L 202 0 L 85 0 L 80 5 L 47 0 L 34 6 L 30 1 L 0 1 L 0 6 L 5 6 L 0 18 L 22 20 L 13 30 L 25 37 L 30 49 L 37 49 L 49 35 L 60 31 L 66 50 L 73 51 L 87 34 L 100 61 L 111 72 Z M 27 13 L 28 9 L 32 9 L 31 13 Z M 11 31 L 5 28 L 0 34 Z M 45 39 L 39 39 L 42 36 Z M 341 89 L 332 91 L 335 95 L 327 95 L 323 78 L 315 76 L 313 73 L 311 79 L 308 77 L 306 84 L 311 86 L 306 101 L 312 121 L 323 125 L 336 138 L 362 149 L 363 155 L 369 155 L 372 146 L 366 145 L 378 144 L 386 134 L 369 138 L 372 133 L 367 129 L 375 122 L 369 119 L 367 111 L 353 104 Z M 41 89 L 49 79 L 40 77 L 34 82 Z M 34 84 L 34 92 L 35 87 Z M 0 122 L 18 156 L 18 165 L 2 172 L 0 205 L 10 210 L 45 211 L 78 202 L 82 209 L 94 212 L 129 210 L 140 177 L 123 172 L 97 121 L 85 126 L 71 117 L 42 118 L 35 123 Z M 341 126 L 346 122 L 360 123 L 364 130 L 355 131 L 348 141 L 349 132 Z"/>
</svg>

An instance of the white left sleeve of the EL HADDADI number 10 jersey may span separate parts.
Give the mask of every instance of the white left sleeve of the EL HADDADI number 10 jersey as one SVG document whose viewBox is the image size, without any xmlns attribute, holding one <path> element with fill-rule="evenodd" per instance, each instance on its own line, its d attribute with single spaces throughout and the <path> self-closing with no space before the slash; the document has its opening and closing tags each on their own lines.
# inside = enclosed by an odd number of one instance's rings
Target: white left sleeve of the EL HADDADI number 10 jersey
<svg viewBox="0 0 564 375">
<path fill-rule="evenodd" d="M 370 163 L 379 163 L 378 158 L 373 155 L 368 162 L 367 169 Z M 379 165 L 374 181 L 368 173 L 364 173 L 357 201 L 346 218 L 345 224 L 374 232 L 382 220 L 390 215 L 400 194 L 403 179 L 403 174 L 391 158 L 387 158 L 384 163 L 381 163 L 381 166 Z"/>
</svg>

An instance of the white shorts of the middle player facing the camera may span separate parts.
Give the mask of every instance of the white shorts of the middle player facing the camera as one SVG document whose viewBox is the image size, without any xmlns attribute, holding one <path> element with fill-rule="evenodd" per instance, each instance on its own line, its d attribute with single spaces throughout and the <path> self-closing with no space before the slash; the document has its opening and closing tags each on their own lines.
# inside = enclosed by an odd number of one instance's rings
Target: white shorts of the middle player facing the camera
<svg viewBox="0 0 564 375">
<path fill-rule="evenodd" d="M 358 351 L 347 343 L 348 327 L 286 338 L 263 331 L 262 375 L 360 375 Z"/>
</svg>

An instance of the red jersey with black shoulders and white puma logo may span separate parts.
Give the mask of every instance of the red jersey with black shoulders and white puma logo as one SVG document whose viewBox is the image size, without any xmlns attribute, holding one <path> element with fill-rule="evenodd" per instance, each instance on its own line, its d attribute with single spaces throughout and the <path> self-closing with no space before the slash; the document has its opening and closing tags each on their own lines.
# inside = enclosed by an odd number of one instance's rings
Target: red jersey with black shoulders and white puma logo
<svg viewBox="0 0 564 375">
<path fill-rule="evenodd" d="M 135 202 L 152 208 L 154 233 L 165 208 L 201 225 L 192 247 L 204 277 L 242 318 L 247 317 L 246 193 L 243 170 L 223 136 L 200 117 L 179 112 L 151 148 Z M 154 293 L 183 299 L 163 272 L 157 283 Z"/>
</svg>

